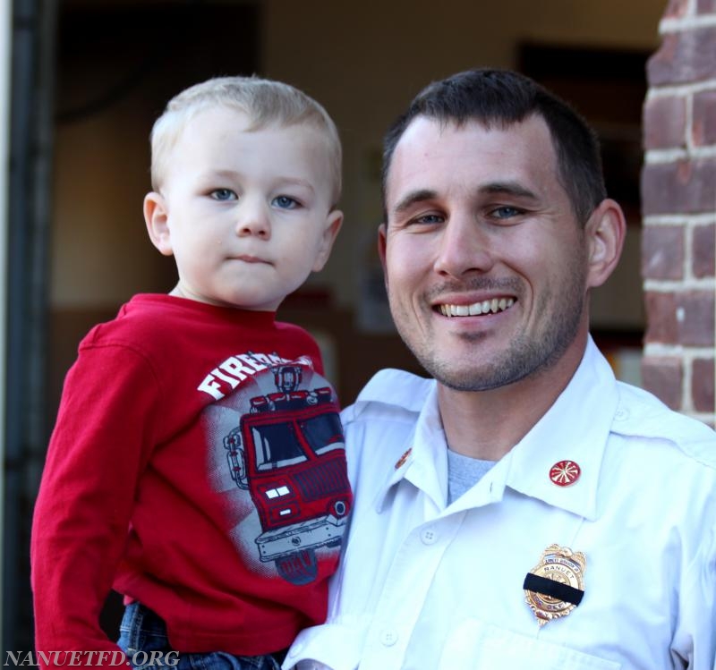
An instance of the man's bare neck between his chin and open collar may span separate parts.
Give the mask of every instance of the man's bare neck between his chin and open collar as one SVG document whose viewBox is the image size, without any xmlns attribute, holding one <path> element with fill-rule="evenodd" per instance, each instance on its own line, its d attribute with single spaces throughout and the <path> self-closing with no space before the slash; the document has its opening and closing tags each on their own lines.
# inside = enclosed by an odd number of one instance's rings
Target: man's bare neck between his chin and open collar
<svg viewBox="0 0 716 670">
<path fill-rule="evenodd" d="M 447 445 L 457 454 L 499 461 L 555 403 L 584 355 L 586 336 L 550 369 L 489 391 L 438 385 Z"/>
</svg>

